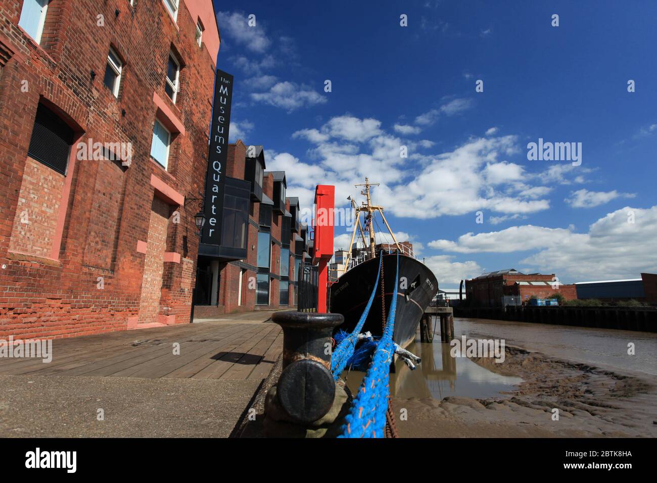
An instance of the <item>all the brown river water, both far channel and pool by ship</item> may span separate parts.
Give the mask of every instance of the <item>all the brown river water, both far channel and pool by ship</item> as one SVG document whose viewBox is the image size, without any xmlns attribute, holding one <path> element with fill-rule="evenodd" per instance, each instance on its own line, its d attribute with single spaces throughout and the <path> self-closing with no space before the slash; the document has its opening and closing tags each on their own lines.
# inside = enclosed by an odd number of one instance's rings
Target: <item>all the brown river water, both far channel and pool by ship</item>
<svg viewBox="0 0 657 483">
<path fill-rule="evenodd" d="M 447 396 L 485 399 L 499 396 L 522 382 L 519 377 L 503 376 L 485 369 L 466 357 L 451 357 L 449 344 L 440 342 L 440 329 L 432 344 L 419 342 L 407 348 L 422 358 L 415 371 L 401 360 L 390 374 L 390 392 L 399 399 Z M 562 325 L 530 324 L 487 319 L 454 319 L 455 337 L 504 339 L 505 344 L 543 352 L 547 356 L 589 363 L 626 373 L 657 375 L 657 334 L 589 329 Z M 627 354 L 627 344 L 635 345 L 635 355 Z M 346 371 L 348 386 L 356 391 L 364 374 Z"/>
</svg>

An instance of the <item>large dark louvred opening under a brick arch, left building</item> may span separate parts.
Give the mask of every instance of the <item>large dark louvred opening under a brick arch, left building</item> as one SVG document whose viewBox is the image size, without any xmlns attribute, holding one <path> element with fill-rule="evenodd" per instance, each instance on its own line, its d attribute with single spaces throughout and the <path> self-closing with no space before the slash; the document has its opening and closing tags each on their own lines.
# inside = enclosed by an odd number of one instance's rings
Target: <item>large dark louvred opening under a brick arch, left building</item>
<svg viewBox="0 0 657 483">
<path fill-rule="evenodd" d="M 37 107 L 28 156 L 66 175 L 73 129 L 43 104 Z"/>
</svg>

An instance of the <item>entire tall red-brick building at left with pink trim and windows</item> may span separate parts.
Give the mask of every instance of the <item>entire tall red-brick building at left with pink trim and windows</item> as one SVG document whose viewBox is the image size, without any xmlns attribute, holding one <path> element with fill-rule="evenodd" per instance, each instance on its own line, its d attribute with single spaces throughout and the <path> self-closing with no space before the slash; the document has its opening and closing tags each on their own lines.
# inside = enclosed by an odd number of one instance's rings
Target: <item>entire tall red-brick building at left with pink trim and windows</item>
<svg viewBox="0 0 657 483">
<path fill-rule="evenodd" d="M 0 0 L 0 20 L 0 338 L 189 322 L 212 1 Z"/>
</svg>

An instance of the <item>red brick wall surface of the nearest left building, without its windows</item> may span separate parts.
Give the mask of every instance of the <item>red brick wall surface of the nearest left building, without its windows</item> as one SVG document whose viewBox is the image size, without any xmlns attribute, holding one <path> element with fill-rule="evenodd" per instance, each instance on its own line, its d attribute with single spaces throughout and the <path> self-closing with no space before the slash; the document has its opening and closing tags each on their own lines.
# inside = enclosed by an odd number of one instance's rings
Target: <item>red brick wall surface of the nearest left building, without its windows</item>
<svg viewBox="0 0 657 483">
<path fill-rule="evenodd" d="M 0 72 L 0 263 L 6 265 L 0 270 L 0 337 L 125 330 L 127 320 L 139 313 L 148 273 L 147 256 L 136 248 L 137 241 L 149 239 L 152 201 L 158 196 L 151 175 L 184 196 L 198 197 L 204 188 L 214 59 L 196 45 L 196 18 L 185 2 L 174 23 L 159 0 L 139 0 L 134 9 L 127 0 L 51 0 L 40 46 L 18 28 L 21 7 L 21 1 L 2 1 L 0 7 L 0 41 L 14 52 Z M 104 26 L 97 25 L 99 15 Z M 110 45 L 125 62 L 118 99 L 102 83 Z M 183 62 L 175 104 L 164 92 L 171 48 Z M 149 156 L 154 94 L 185 127 L 171 143 L 168 171 Z M 22 255 L 10 248 L 22 185 L 31 182 L 27 151 L 39 102 L 74 129 L 74 150 L 78 139 L 92 139 L 130 142 L 133 154 L 121 172 L 107 160 L 69 164 L 64 189 L 53 191 L 53 200 L 39 192 L 36 202 L 51 210 L 39 214 L 47 236 Z M 152 299 L 157 320 L 175 315 L 176 323 L 189 321 L 198 251 L 194 208 L 168 206 L 179 212 L 180 223 L 167 224 L 165 250 L 181 260 L 164 262 L 160 296 Z M 47 258 L 49 244 L 56 260 Z"/>
</svg>

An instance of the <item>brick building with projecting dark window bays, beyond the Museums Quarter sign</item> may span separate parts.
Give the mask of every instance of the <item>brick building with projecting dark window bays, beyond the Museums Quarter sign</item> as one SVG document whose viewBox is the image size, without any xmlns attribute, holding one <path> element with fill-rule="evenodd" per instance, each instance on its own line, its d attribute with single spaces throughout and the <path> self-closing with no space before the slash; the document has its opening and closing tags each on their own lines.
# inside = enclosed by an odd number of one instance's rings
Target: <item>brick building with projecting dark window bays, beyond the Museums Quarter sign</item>
<svg viewBox="0 0 657 483">
<path fill-rule="evenodd" d="M 296 305 L 296 274 L 310 242 L 298 198 L 286 196 L 285 172 L 265 171 L 263 147 L 238 140 L 229 145 L 226 182 L 248 189 L 244 249 L 201 244 L 194 317 Z"/>
</svg>

